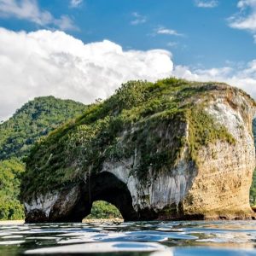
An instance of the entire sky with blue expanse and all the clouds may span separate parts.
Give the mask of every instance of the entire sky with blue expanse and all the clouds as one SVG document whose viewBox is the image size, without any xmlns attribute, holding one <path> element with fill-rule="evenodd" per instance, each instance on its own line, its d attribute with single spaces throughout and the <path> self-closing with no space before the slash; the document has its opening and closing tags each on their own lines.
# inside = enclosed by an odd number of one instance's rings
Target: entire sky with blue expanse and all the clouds
<svg viewBox="0 0 256 256">
<path fill-rule="evenodd" d="M 36 96 L 89 104 L 131 79 L 256 98 L 256 0 L 0 0 L 0 121 Z"/>
</svg>

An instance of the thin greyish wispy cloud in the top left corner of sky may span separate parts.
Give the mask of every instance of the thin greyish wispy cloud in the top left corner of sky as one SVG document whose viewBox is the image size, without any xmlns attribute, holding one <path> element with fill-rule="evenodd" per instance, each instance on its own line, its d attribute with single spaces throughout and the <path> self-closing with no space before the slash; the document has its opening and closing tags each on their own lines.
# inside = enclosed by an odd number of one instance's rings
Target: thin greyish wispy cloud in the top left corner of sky
<svg viewBox="0 0 256 256">
<path fill-rule="evenodd" d="M 40 9 L 37 0 L 0 0 L 0 16 L 29 20 L 39 26 L 54 26 L 61 30 L 77 29 L 67 15 L 56 19 L 49 11 Z"/>
</svg>

